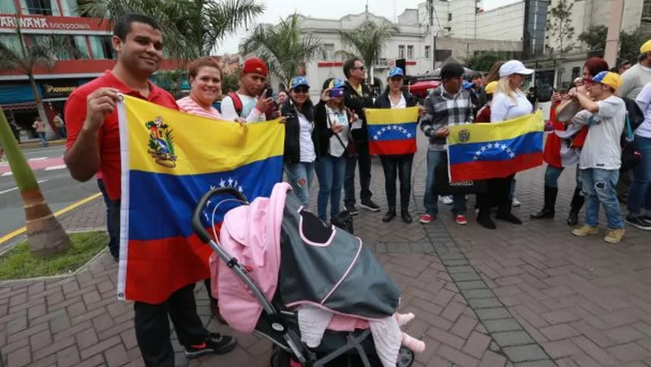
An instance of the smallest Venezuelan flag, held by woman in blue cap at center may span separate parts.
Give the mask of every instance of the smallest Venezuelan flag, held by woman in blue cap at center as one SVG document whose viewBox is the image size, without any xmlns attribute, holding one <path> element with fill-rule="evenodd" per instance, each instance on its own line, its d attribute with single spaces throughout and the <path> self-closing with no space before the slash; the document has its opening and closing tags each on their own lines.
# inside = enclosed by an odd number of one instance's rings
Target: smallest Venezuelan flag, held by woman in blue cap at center
<svg viewBox="0 0 651 367">
<path fill-rule="evenodd" d="M 368 108 L 366 124 L 369 127 L 371 154 L 411 154 L 416 152 L 416 125 L 418 107 Z"/>
</svg>

